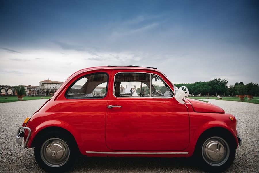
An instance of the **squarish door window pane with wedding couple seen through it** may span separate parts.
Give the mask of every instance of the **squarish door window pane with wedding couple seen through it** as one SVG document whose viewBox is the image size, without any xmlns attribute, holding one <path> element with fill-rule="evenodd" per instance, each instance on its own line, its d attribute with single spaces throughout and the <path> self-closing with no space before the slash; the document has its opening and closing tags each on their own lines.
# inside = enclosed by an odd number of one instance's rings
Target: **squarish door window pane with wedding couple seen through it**
<svg viewBox="0 0 259 173">
<path fill-rule="evenodd" d="M 114 95 L 116 97 L 150 97 L 149 83 L 150 74 L 116 74 L 114 80 Z"/>
</svg>

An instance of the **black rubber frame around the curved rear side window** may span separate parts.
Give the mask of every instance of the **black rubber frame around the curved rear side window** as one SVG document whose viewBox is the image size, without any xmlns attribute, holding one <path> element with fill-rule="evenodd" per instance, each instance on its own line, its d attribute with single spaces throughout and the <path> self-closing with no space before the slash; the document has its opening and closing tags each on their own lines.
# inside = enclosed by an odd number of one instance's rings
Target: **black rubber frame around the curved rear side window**
<svg viewBox="0 0 259 173">
<path fill-rule="evenodd" d="M 91 75 L 94 75 L 94 74 L 106 74 L 107 75 L 107 84 L 106 84 L 106 93 L 105 93 L 105 95 L 103 96 L 103 97 L 75 97 L 75 98 L 73 98 L 73 97 L 67 97 L 67 93 L 68 93 L 68 91 L 71 89 L 71 87 L 77 82 L 77 81 L 79 81 L 80 79 L 82 79 L 82 78 L 85 78 L 86 76 L 91 76 Z M 69 87 L 66 89 L 66 92 L 65 92 L 65 98 L 66 99 L 77 99 L 77 100 L 81 100 L 81 99 L 103 99 L 103 98 L 105 98 L 106 96 L 107 96 L 107 93 L 108 93 L 108 86 L 109 86 L 109 74 L 108 73 L 106 73 L 106 72 L 96 72 L 96 73 L 90 73 L 90 74 L 86 74 L 86 75 L 84 75 L 84 76 L 81 76 L 80 78 L 78 78 L 78 79 L 76 79 L 71 85 L 69 85 Z M 104 82 L 105 83 L 105 82 Z"/>
</svg>

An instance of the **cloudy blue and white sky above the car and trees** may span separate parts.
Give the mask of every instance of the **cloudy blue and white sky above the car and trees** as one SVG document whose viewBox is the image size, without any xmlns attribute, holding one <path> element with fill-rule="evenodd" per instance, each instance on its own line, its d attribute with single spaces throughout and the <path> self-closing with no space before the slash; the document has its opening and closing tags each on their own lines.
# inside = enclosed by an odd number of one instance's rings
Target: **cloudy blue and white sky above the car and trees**
<svg viewBox="0 0 259 173">
<path fill-rule="evenodd" d="M 259 2 L 0 0 L 0 62 L 3 85 L 102 65 L 156 67 L 174 84 L 259 82 Z"/>
</svg>

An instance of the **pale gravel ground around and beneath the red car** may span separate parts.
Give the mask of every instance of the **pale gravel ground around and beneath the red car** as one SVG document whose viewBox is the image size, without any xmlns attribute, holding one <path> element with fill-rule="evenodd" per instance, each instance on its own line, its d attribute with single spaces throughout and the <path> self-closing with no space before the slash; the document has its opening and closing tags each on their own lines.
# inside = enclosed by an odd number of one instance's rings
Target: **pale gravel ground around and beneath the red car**
<svg viewBox="0 0 259 173">
<path fill-rule="evenodd" d="M 36 163 L 33 148 L 16 143 L 16 132 L 46 100 L 0 104 L 0 172 L 44 172 Z M 236 151 L 226 172 L 259 172 L 259 104 L 208 100 L 238 119 L 237 130 L 243 145 Z M 81 156 L 68 172 L 203 172 L 191 158 L 121 158 Z"/>
</svg>

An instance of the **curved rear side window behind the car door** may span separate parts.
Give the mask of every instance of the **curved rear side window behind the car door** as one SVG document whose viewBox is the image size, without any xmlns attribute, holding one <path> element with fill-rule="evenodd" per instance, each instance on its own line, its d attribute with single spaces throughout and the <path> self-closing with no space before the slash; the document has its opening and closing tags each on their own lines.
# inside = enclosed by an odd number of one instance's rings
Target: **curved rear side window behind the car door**
<svg viewBox="0 0 259 173">
<path fill-rule="evenodd" d="M 108 75 L 95 73 L 77 79 L 68 88 L 67 98 L 103 98 L 107 93 Z"/>
</svg>

